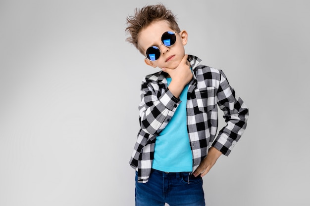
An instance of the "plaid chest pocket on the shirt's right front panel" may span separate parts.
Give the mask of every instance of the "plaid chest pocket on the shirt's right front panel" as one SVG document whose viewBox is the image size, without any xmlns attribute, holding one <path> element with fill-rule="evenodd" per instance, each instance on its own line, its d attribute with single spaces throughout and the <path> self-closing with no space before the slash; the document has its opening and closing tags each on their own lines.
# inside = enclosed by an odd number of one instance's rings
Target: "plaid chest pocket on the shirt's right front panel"
<svg viewBox="0 0 310 206">
<path fill-rule="evenodd" d="M 195 89 L 198 109 L 202 112 L 209 112 L 215 107 L 215 88 L 207 87 Z"/>
</svg>

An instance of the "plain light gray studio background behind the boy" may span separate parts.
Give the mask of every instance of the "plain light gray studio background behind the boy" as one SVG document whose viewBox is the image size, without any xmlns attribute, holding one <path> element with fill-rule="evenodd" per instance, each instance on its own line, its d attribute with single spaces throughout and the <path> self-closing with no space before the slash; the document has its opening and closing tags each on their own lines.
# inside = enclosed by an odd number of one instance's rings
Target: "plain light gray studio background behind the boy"
<svg viewBox="0 0 310 206">
<path fill-rule="evenodd" d="M 140 83 L 158 69 L 125 19 L 155 2 L 0 1 L 1 206 L 134 205 Z M 207 205 L 309 206 L 309 1 L 161 2 L 250 107 L 204 177 Z"/>
</svg>

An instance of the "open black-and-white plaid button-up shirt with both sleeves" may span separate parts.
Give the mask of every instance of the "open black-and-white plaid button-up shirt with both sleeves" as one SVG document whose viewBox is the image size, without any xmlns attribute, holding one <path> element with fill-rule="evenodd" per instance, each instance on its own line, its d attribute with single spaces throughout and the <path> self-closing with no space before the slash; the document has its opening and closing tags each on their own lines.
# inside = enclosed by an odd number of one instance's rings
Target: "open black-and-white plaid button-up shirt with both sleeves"
<svg viewBox="0 0 310 206">
<path fill-rule="evenodd" d="M 211 145 L 229 155 L 246 128 L 249 113 L 221 70 L 199 65 L 201 59 L 192 55 L 188 60 L 193 69 L 193 79 L 187 94 L 187 130 L 194 171 L 207 156 Z M 138 171 L 138 182 L 148 182 L 156 136 L 168 124 L 179 104 L 180 100 L 167 87 L 164 72 L 143 79 L 139 104 L 141 129 L 129 162 Z M 217 106 L 223 111 L 227 124 L 215 139 Z"/>
</svg>

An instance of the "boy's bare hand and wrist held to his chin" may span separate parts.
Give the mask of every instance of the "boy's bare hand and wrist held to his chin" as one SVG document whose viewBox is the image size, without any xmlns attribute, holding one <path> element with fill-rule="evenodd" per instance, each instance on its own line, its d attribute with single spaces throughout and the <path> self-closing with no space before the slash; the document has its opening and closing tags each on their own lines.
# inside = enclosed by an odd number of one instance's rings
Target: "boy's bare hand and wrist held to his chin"
<svg viewBox="0 0 310 206">
<path fill-rule="evenodd" d="M 193 73 L 190 70 L 191 65 L 189 61 L 187 61 L 187 57 L 188 55 L 185 54 L 180 64 L 175 69 L 167 67 L 162 68 L 162 71 L 168 73 L 171 77 L 171 83 L 168 88 L 175 97 L 180 96 L 184 86 L 193 78 Z"/>
</svg>

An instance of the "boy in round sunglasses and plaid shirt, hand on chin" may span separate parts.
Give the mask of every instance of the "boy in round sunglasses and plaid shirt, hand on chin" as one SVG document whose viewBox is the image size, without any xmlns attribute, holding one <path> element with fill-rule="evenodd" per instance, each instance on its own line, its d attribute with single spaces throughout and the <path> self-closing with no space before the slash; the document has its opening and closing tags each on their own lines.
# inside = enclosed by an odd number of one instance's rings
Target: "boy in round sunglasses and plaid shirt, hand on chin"
<svg viewBox="0 0 310 206">
<path fill-rule="evenodd" d="M 144 78 L 140 126 L 130 165 L 136 169 L 136 206 L 205 206 L 202 177 L 244 132 L 248 108 L 224 73 L 185 54 L 188 40 L 162 4 L 127 17 L 127 41 L 161 71 Z M 218 136 L 217 106 L 227 123 Z"/>
</svg>

